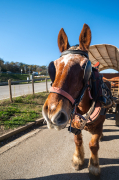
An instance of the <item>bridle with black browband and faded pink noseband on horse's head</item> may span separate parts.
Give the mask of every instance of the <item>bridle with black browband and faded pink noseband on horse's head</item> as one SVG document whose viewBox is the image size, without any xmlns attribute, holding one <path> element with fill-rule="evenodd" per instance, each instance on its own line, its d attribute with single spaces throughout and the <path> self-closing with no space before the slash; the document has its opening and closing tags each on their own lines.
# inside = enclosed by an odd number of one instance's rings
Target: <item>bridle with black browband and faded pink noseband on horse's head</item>
<svg viewBox="0 0 119 180">
<path fill-rule="evenodd" d="M 84 126 L 85 126 L 88 118 L 90 117 L 90 114 L 91 114 L 91 112 L 92 112 L 92 110 L 94 109 L 94 106 L 95 106 L 95 102 L 93 102 L 92 103 L 92 109 L 90 109 L 87 112 L 85 117 L 76 112 L 76 107 L 78 106 L 79 102 L 81 102 L 86 89 L 89 88 L 89 83 L 88 82 L 89 82 L 89 79 L 91 77 L 92 66 L 91 66 L 91 62 L 89 60 L 88 54 L 85 51 L 66 50 L 66 51 L 62 52 L 60 57 L 65 56 L 65 55 L 67 55 L 69 53 L 70 54 L 80 54 L 81 56 L 85 56 L 88 59 L 86 64 L 83 65 L 83 69 L 84 69 L 84 76 L 83 76 L 84 86 L 83 86 L 82 90 L 80 91 L 79 96 L 76 99 L 74 99 L 69 93 L 67 93 L 66 91 L 64 91 L 64 90 L 62 90 L 61 88 L 58 88 L 58 87 L 51 87 L 49 92 L 50 93 L 60 94 L 63 97 L 67 98 L 71 102 L 71 104 L 72 104 L 72 112 L 71 112 L 71 115 L 70 115 L 71 122 L 70 122 L 70 126 L 69 126 L 68 130 L 77 135 L 77 134 L 80 134 L 81 130 L 84 128 Z M 75 115 L 78 115 L 80 117 L 80 119 L 82 120 L 82 124 L 81 124 L 80 129 L 76 129 L 76 128 L 71 127 L 71 123 L 72 123 L 72 120 L 75 117 Z"/>
</svg>

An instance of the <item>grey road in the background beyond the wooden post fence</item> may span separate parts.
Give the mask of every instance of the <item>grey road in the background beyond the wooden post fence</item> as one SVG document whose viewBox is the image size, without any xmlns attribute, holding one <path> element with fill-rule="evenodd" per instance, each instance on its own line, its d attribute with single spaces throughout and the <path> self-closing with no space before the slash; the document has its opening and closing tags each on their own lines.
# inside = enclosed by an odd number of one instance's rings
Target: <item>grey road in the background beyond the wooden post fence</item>
<svg viewBox="0 0 119 180">
<path fill-rule="evenodd" d="M 48 82 L 48 89 L 50 88 L 50 83 Z M 34 83 L 35 92 L 42 92 L 46 90 L 46 83 Z M 25 94 L 32 93 L 32 84 L 17 84 L 12 85 L 12 96 L 21 96 Z M 0 100 L 9 98 L 9 87 L 8 86 L 0 86 Z"/>
</svg>

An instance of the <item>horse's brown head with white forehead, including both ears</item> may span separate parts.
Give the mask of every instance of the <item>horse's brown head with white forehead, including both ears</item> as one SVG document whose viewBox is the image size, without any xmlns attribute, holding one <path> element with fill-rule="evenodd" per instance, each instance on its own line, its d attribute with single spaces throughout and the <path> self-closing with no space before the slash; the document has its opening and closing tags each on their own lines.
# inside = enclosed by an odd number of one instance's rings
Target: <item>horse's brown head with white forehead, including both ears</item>
<svg viewBox="0 0 119 180">
<path fill-rule="evenodd" d="M 49 64 L 48 71 L 54 90 L 50 91 L 42 110 L 48 128 L 60 130 L 69 122 L 73 100 L 79 97 L 85 81 L 89 78 L 89 74 L 86 75 L 86 64 L 90 42 L 91 30 L 87 24 L 83 25 L 79 45 L 76 46 L 69 45 L 63 28 L 59 31 L 58 47 L 62 54 L 59 59 Z"/>
</svg>

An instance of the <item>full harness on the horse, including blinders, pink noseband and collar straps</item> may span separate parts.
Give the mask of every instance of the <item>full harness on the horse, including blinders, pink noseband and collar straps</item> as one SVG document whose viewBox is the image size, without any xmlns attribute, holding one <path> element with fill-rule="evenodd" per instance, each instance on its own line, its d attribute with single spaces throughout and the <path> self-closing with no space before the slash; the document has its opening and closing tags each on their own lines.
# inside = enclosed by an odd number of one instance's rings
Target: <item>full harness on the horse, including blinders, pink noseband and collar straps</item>
<svg viewBox="0 0 119 180">
<path fill-rule="evenodd" d="M 84 69 L 84 76 L 83 76 L 84 86 L 83 86 L 82 90 L 80 91 L 79 96 L 76 99 L 74 99 L 69 93 L 67 93 L 66 91 L 64 91 L 64 90 L 62 90 L 62 89 L 60 89 L 58 87 L 51 87 L 49 92 L 50 93 L 52 92 L 52 93 L 60 94 L 63 97 L 67 98 L 72 103 L 73 108 L 72 108 L 72 112 L 70 114 L 71 121 L 70 121 L 70 126 L 68 128 L 68 131 L 74 133 L 75 135 L 78 135 L 78 134 L 81 133 L 81 130 L 84 129 L 84 126 L 86 125 L 86 123 L 90 123 L 91 118 L 93 119 L 95 117 L 95 114 L 96 114 L 96 118 L 97 118 L 97 116 L 99 116 L 99 114 L 101 112 L 101 103 L 99 103 L 99 102 L 96 103 L 100 88 L 98 88 L 98 92 L 96 92 L 95 74 L 92 71 L 93 68 L 91 66 L 91 62 L 89 60 L 87 52 L 81 51 L 81 50 L 66 50 L 61 54 L 60 57 L 66 55 L 66 54 L 69 54 L 69 53 L 71 53 L 71 54 L 80 54 L 80 55 L 85 56 L 86 58 L 88 58 L 88 61 L 86 62 L 86 64 L 83 65 L 83 69 Z M 51 77 L 52 82 L 54 82 L 56 70 L 55 70 L 55 66 L 54 66 L 53 61 L 50 63 L 50 65 L 48 67 L 48 72 L 49 72 L 49 75 Z M 90 88 L 89 79 L 91 79 L 92 84 L 93 84 L 92 85 L 92 91 L 93 91 L 92 94 L 94 95 L 93 98 L 92 98 L 92 96 L 90 94 L 90 91 L 89 91 L 89 88 Z M 101 81 L 99 81 L 99 82 L 101 82 Z M 99 86 L 99 87 L 101 87 L 101 86 Z M 88 88 L 88 92 L 89 92 L 89 97 L 90 97 L 90 99 L 92 99 L 92 104 L 91 104 L 91 108 L 89 109 L 89 111 L 86 114 L 81 115 L 81 114 L 76 112 L 76 108 L 77 108 L 78 104 L 81 102 L 87 88 Z M 94 111 L 94 109 L 95 109 L 95 111 Z M 91 115 L 92 115 L 92 117 L 91 117 Z M 78 121 L 80 121 L 80 124 L 81 124 L 80 129 L 71 127 L 72 120 L 75 119 L 75 117 L 78 117 Z"/>
</svg>

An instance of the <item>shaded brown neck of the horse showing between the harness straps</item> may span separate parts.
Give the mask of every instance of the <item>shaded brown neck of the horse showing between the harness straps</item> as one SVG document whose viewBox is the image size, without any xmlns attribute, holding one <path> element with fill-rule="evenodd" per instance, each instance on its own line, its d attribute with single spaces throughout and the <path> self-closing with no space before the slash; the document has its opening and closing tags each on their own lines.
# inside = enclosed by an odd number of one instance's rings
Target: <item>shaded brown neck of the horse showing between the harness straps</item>
<svg viewBox="0 0 119 180">
<path fill-rule="evenodd" d="M 82 101 L 79 103 L 78 105 L 78 112 L 81 114 L 85 114 L 86 112 L 88 112 L 89 108 L 90 108 L 90 97 L 89 97 L 89 92 L 88 89 L 85 91 L 84 96 Z"/>
</svg>

